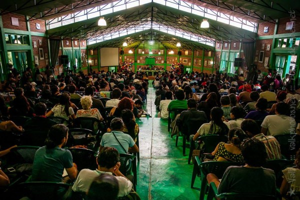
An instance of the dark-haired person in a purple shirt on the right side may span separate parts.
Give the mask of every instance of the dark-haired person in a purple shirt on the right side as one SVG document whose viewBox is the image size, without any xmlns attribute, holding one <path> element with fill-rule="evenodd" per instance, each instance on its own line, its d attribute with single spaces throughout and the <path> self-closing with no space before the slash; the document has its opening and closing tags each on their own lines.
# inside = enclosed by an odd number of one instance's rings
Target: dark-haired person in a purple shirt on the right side
<svg viewBox="0 0 300 200">
<path fill-rule="evenodd" d="M 256 110 L 250 111 L 246 116 L 246 118 L 253 120 L 263 120 L 265 116 L 268 115 L 266 111 L 267 101 L 265 98 L 259 98 L 255 104 Z"/>
</svg>

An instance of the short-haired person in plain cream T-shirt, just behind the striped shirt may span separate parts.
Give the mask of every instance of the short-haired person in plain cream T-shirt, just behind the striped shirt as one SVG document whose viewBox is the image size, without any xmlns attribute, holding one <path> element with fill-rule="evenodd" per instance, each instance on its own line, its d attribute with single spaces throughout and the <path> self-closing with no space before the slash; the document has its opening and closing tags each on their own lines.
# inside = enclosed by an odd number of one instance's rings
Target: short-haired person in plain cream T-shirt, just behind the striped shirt
<svg viewBox="0 0 300 200">
<path fill-rule="evenodd" d="M 265 135 L 290 133 L 296 130 L 295 119 L 290 114 L 289 105 L 284 102 L 276 103 L 275 114 L 266 116 L 261 123 L 261 132 Z"/>
</svg>

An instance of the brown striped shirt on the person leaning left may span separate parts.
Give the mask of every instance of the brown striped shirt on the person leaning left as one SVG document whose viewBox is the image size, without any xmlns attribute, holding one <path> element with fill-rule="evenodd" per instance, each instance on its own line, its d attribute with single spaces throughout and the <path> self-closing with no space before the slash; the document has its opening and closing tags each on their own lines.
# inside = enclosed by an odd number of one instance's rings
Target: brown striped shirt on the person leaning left
<svg viewBox="0 0 300 200">
<path fill-rule="evenodd" d="M 267 159 L 281 159 L 280 144 L 275 137 L 260 133 L 253 136 L 253 138 L 264 143 Z"/>
</svg>

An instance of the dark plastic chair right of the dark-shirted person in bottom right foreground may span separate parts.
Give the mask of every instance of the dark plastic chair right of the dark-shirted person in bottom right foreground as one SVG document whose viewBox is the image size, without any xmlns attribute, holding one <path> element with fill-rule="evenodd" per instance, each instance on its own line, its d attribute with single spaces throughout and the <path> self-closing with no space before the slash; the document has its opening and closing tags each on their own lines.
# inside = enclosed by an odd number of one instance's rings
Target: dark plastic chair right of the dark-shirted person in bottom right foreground
<svg viewBox="0 0 300 200">
<path fill-rule="evenodd" d="M 280 188 L 282 183 L 282 170 L 288 166 L 293 166 L 292 160 L 287 159 L 269 159 L 266 160 L 266 163 L 263 165 L 264 168 L 272 169 L 275 172 L 276 177 L 276 186 Z"/>
</svg>

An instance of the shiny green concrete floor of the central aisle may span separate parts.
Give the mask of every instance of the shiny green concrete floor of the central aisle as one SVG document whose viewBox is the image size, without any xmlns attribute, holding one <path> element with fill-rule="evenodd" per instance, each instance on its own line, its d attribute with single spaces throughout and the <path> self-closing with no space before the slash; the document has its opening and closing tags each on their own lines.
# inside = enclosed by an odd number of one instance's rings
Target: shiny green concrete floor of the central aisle
<svg viewBox="0 0 300 200">
<path fill-rule="evenodd" d="M 199 199 L 199 189 L 190 188 L 192 165 L 187 164 L 188 156 L 182 155 L 182 137 L 175 147 L 175 136 L 170 137 L 167 120 L 157 117 L 154 100 L 155 89 L 150 87 L 144 109 L 152 117 L 136 120 L 140 129 L 136 191 L 142 200 Z M 199 186 L 196 178 L 194 187 Z"/>
</svg>

